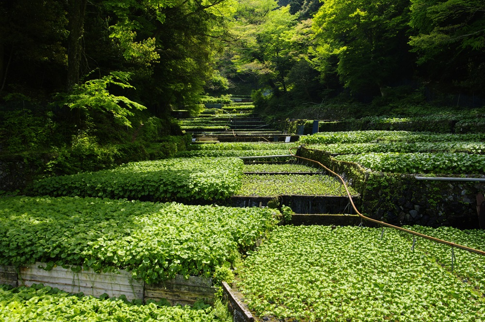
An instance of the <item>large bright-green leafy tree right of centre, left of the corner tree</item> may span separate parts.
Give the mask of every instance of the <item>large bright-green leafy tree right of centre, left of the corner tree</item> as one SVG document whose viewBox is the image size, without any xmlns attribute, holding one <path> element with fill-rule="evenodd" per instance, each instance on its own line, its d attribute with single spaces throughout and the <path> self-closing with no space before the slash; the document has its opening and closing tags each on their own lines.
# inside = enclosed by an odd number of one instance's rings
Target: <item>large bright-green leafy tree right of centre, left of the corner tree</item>
<svg viewBox="0 0 485 322">
<path fill-rule="evenodd" d="M 327 0 L 313 20 L 320 72 L 335 65 L 342 84 L 354 92 L 375 93 L 409 78 L 407 0 Z"/>
</svg>

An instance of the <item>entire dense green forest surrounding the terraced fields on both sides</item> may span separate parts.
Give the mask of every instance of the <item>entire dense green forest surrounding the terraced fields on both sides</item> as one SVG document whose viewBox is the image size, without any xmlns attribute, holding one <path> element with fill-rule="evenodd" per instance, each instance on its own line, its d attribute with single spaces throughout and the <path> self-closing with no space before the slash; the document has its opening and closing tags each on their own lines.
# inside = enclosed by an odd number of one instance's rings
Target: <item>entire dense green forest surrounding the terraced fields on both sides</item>
<svg viewBox="0 0 485 322">
<path fill-rule="evenodd" d="M 0 152 L 57 174 L 169 154 L 170 112 L 207 96 L 300 118 L 485 103 L 481 0 L 3 0 L 0 35 Z"/>
</svg>

